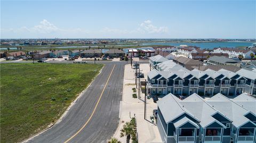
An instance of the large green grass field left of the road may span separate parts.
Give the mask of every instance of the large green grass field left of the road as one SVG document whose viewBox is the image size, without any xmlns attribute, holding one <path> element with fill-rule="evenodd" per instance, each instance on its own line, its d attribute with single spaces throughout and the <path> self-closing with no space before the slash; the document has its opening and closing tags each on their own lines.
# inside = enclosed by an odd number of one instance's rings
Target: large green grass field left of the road
<svg viewBox="0 0 256 143">
<path fill-rule="evenodd" d="M 56 122 L 102 66 L 2 63 L 0 142 L 19 142 Z"/>
</svg>

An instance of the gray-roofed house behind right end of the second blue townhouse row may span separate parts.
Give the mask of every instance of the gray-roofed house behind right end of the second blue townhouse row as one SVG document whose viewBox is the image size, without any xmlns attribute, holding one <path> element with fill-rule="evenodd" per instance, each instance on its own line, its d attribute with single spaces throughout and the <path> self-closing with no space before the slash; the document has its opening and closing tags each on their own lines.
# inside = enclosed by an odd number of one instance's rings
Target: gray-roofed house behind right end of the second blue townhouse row
<svg viewBox="0 0 256 143">
<path fill-rule="evenodd" d="M 212 56 L 208 58 L 207 64 L 209 65 L 235 65 L 240 67 L 240 61 L 234 60 L 226 56 Z"/>
</svg>

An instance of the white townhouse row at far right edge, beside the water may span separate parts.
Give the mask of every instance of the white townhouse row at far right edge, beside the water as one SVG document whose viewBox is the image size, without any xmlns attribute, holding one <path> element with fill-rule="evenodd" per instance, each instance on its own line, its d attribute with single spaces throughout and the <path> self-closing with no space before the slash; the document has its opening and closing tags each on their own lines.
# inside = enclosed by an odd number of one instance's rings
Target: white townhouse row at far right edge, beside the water
<svg viewBox="0 0 256 143">
<path fill-rule="evenodd" d="M 238 57 L 243 55 L 244 58 L 251 59 L 250 54 L 255 54 L 250 49 L 238 49 L 238 48 L 214 48 L 213 53 L 227 53 L 230 57 Z"/>
</svg>

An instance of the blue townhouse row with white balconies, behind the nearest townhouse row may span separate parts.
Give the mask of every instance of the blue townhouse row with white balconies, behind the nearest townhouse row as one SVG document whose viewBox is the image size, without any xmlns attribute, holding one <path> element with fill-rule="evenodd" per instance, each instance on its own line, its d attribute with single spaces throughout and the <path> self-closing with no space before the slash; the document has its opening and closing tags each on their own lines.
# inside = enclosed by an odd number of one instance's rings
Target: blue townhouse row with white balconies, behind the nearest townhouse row
<svg viewBox="0 0 256 143">
<path fill-rule="evenodd" d="M 252 71 L 249 71 L 252 72 Z M 253 73 L 251 73 L 253 74 Z M 174 95 L 189 96 L 193 93 L 201 96 L 213 96 L 217 93 L 223 95 L 239 95 L 243 92 L 254 94 L 255 76 L 245 78 L 240 72 L 225 69 L 214 71 L 188 70 L 173 62 L 162 62 L 148 73 L 147 92 L 149 95 Z M 255 73 L 254 73 L 255 74 Z M 250 79 L 250 82 L 248 82 Z"/>
</svg>

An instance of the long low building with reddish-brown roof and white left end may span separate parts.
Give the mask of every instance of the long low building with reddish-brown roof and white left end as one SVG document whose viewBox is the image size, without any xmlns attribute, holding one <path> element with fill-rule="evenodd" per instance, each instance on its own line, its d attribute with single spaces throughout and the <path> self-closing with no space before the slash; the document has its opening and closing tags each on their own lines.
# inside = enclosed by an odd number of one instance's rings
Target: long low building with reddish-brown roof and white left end
<svg viewBox="0 0 256 143">
<path fill-rule="evenodd" d="M 228 57 L 229 55 L 227 53 L 190 53 L 188 55 L 188 58 L 192 58 L 193 60 L 207 60 L 207 58 L 210 58 L 212 56 Z"/>
</svg>

